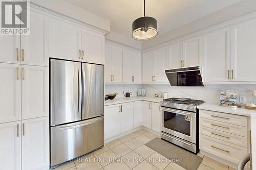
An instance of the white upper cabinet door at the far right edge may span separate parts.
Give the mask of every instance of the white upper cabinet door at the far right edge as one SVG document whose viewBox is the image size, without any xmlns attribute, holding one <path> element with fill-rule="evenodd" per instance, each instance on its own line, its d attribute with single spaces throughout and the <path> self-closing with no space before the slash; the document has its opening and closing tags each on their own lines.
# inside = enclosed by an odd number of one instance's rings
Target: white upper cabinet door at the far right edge
<svg viewBox="0 0 256 170">
<path fill-rule="evenodd" d="M 231 27 L 231 81 L 256 81 L 256 19 Z"/>
</svg>

